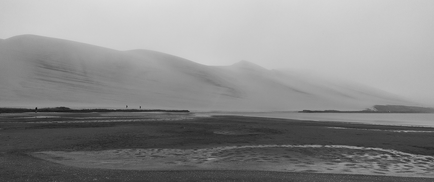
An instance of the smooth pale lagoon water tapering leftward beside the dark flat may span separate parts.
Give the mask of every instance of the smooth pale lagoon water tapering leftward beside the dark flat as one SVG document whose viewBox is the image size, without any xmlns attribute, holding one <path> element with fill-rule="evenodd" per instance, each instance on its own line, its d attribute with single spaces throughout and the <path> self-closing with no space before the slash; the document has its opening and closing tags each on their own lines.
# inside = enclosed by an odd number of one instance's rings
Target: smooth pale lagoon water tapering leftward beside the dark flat
<svg viewBox="0 0 434 182">
<path fill-rule="evenodd" d="M 434 127 L 434 113 L 212 112 L 208 114 Z"/>
</svg>

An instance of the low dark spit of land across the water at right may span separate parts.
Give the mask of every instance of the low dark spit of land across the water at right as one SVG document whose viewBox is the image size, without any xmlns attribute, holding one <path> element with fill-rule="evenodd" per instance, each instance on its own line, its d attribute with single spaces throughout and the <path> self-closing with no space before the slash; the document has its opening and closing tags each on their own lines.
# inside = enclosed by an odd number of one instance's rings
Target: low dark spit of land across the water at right
<svg viewBox="0 0 434 182">
<path fill-rule="evenodd" d="M 302 110 L 300 113 L 434 113 L 432 107 L 417 107 L 403 105 L 374 105 L 365 110 L 341 111 L 341 110 Z"/>
</svg>

